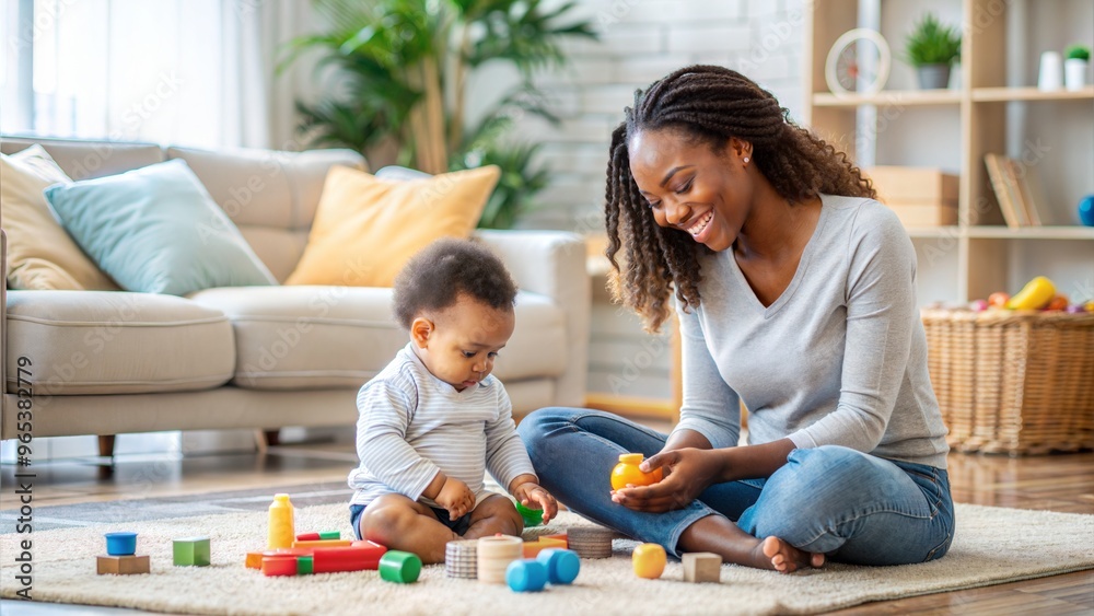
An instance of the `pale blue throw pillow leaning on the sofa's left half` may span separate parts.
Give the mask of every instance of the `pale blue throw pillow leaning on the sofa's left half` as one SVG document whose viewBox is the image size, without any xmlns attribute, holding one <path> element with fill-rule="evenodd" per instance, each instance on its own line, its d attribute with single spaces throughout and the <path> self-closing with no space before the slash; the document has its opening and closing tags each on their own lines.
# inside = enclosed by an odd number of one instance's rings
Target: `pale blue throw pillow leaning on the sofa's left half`
<svg viewBox="0 0 1094 616">
<path fill-rule="evenodd" d="M 80 247 L 127 291 L 277 284 L 182 160 L 58 184 L 45 195 Z"/>
</svg>

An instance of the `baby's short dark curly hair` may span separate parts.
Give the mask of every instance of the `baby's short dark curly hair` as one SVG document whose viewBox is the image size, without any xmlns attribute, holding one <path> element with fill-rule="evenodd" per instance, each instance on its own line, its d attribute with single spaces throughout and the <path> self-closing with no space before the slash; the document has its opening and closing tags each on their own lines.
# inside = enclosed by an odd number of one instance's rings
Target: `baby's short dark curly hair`
<svg viewBox="0 0 1094 616">
<path fill-rule="evenodd" d="M 489 248 L 470 240 L 438 240 L 395 277 L 395 318 L 409 329 L 423 312 L 454 305 L 459 293 L 497 310 L 513 310 L 516 303 L 516 283 Z"/>
</svg>

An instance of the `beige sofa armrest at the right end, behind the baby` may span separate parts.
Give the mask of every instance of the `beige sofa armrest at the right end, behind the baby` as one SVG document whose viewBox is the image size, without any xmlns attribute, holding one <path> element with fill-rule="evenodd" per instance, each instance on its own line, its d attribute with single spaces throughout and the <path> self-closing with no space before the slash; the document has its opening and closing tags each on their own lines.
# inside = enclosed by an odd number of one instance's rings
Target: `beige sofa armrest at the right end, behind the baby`
<svg viewBox="0 0 1094 616">
<path fill-rule="evenodd" d="M 585 404 L 592 283 L 585 241 L 561 231 L 487 231 L 476 236 L 493 248 L 524 291 L 551 298 L 566 314 L 567 369 L 555 392 L 557 406 Z"/>
</svg>

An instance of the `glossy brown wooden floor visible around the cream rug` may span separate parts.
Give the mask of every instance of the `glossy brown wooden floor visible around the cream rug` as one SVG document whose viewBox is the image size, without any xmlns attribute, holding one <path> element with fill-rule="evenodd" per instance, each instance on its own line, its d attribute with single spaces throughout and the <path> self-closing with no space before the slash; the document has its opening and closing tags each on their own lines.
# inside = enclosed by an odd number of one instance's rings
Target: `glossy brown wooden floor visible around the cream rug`
<svg viewBox="0 0 1094 616">
<path fill-rule="evenodd" d="M 95 460 L 55 462 L 35 468 L 34 502 L 45 507 L 338 481 L 356 462 L 353 448 L 347 442 L 286 445 L 266 455 L 123 458 L 110 474 L 103 473 Z M 149 479 L 150 468 L 154 480 Z M 11 498 L 14 473 L 13 466 L 0 468 L 0 509 L 18 507 Z M 950 479 L 957 502 L 1094 514 L 1094 453 L 1022 458 L 954 453 L 950 455 Z M 1094 550 L 1094 537 L 1075 541 Z M 3 607 L 14 606 L 4 602 Z M 1094 571 L 871 603 L 833 614 L 1091 615 Z"/>
</svg>

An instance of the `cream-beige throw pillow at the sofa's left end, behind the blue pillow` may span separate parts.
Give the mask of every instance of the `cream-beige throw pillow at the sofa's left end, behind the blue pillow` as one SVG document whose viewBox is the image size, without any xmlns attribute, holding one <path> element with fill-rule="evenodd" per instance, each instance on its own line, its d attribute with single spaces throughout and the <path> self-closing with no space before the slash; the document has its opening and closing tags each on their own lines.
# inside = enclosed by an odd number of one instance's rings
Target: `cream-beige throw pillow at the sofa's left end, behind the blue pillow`
<svg viewBox="0 0 1094 616">
<path fill-rule="evenodd" d="M 8 232 L 8 286 L 35 290 L 118 290 L 49 211 L 43 189 L 72 181 L 42 146 L 0 154 L 0 208 Z"/>
</svg>

